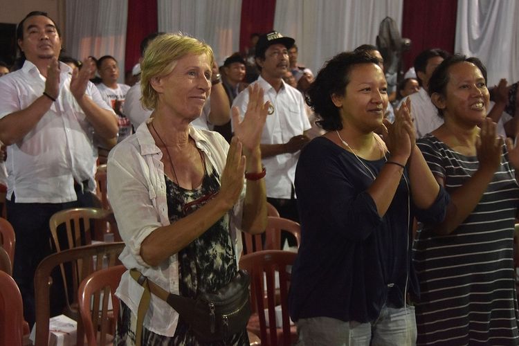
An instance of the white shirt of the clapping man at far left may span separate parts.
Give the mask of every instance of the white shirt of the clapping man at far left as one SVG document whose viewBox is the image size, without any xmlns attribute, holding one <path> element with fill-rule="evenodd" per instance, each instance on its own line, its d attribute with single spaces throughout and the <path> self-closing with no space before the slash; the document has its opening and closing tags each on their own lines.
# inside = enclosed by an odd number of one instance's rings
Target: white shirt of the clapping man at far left
<svg viewBox="0 0 519 346">
<path fill-rule="evenodd" d="M 22 140 L 7 147 L 8 200 L 15 192 L 17 203 L 75 201 L 74 181 L 88 181 L 88 190 L 95 190 L 98 149 L 93 127 L 71 93 L 71 76 L 72 69 L 60 63 L 57 100 Z M 0 78 L 0 119 L 33 104 L 44 92 L 45 81 L 28 60 Z M 112 111 L 91 82 L 85 94 Z"/>
</svg>

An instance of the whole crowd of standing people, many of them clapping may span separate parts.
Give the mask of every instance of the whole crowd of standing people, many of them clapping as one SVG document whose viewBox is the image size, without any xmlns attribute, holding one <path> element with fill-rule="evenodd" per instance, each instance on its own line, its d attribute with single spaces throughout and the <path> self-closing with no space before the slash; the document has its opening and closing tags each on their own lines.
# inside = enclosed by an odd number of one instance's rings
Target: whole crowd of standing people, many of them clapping
<svg viewBox="0 0 519 346">
<path fill-rule="evenodd" d="M 138 278 L 192 300 L 225 287 L 267 202 L 301 225 L 298 345 L 519 345 L 518 83 L 489 88 L 477 57 L 427 49 L 390 93 L 370 44 L 314 75 L 276 31 L 222 66 L 200 39 L 153 33 L 130 86 L 111 55 L 64 56 L 45 12 L 17 43 L 19 69 L 0 63 L 0 183 L 30 325 L 48 220 L 95 206 L 107 163 L 128 269 L 114 345 L 248 345 L 245 328 L 205 343 L 156 295 L 140 318 Z"/>
</svg>

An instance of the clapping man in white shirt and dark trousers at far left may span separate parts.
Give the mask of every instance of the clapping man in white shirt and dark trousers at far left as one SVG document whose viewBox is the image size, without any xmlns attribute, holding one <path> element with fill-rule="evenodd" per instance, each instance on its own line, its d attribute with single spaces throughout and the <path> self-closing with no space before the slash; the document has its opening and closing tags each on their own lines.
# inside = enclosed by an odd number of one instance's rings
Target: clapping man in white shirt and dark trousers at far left
<svg viewBox="0 0 519 346">
<path fill-rule="evenodd" d="M 34 322 L 34 273 L 49 255 L 48 220 L 92 203 L 97 149 L 93 135 L 115 144 L 115 113 L 81 71 L 57 61 L 62 39 L 45 12 L 30 12 L 17 28 L 24 66 L 0 78 L 0 141 L 7 145 L 8 220 L 15 228 L 13 277 Z"/>
</svg>

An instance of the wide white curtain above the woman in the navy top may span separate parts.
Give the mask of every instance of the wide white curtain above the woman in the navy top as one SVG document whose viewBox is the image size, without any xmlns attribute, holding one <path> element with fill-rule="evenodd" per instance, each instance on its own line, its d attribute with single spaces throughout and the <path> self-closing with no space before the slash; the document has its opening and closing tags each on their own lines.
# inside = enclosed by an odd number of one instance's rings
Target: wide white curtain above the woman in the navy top
<svg viewBox="0 0 519 346">
<path fill-rule="evenodd" d="M 274 29 L 295 39 L 298 62 L 316 74 L 337 53 L 375 44 L 385 17 L 401 30 L 402 10 L 403 0 L 277 0 Z"/>
</svg>

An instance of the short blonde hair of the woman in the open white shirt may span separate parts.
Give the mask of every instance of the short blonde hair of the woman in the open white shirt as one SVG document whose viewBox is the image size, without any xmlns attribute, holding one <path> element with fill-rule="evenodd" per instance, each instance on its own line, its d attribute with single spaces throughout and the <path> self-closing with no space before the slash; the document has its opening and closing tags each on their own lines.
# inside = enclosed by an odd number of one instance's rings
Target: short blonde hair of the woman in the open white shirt
<svg viewBox="0 0 519 346">
<path fill-rule="evenodd" d="M 210 66 L 215 61 L 208 44 L 181 33 L 159 35 L 149 43 L 140 63 L 140 89 L 143 91 L 140 102 L 145 109 L 156 109 L 158 104 L 158 93 L 153 89 L 152 78 L 169 75 L 176 62 L 188 54 L 206 54 Z"/>
</svg>

